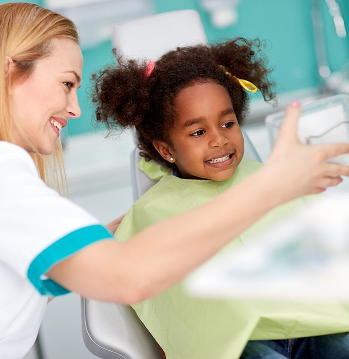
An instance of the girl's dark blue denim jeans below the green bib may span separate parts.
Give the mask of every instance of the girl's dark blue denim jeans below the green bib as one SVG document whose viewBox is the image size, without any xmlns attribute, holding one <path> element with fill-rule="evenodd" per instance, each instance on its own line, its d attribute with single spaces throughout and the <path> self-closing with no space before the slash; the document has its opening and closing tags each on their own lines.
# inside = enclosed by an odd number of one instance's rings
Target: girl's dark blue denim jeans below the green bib
<svg viewBox="0 0 349 359">
<path fill-rule="evenodd" d="M 250 341 L 240 359 L 349 359 L 349 334 Z"/>
</svg>

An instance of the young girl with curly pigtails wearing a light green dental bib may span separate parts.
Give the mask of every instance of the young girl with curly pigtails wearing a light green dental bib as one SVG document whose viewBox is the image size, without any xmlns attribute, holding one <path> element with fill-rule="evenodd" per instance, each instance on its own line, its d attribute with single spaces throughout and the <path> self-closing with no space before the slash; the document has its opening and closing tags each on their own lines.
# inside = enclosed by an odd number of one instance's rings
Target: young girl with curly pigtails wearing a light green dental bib
<svg viewBox="0 0 349 359">
<path fill-rule="evenodd" d="M 135 126 L 144 157 L 140 167 L 151 178 L 161 178 L 126 214 L 116 233 L 119 240 L 206 203 L 261 167 L 243 158 L 240 125 L 248 113 L 248 92 L 258 88 L 265 99 L 274 98 L 268 73 L 259 43 L 237 38 L 178 48 L 156 64 L 119 58 L 117 68 L 97 78 L 97 119 L 109 126 Z M 240 208 L 234 198 L 231 204 L 234 218 Z M 301 200 L 277 208 L 233 242 L 242 243 L 299 205 Z M 223 212 L 218 208 L 215 215 Z M 158 245 L 164 243 L 166 236 Z M 202 250 L 200 244 L 196 250 Z M 311 346 L 325 340 L 335 347 L 336 357 L 349 355 L 345 334 L 318 336 L 301 345 L 300 340 L 272 341 L 348 331 L 349 315 L 342 305 L 202 300 L 179 284 L 134 308 L 169 359 L 237 358 L 248 340 L 266 341 L 249 342 L 244 358 L 306 357 L 315 353 Z"/>
</svg>

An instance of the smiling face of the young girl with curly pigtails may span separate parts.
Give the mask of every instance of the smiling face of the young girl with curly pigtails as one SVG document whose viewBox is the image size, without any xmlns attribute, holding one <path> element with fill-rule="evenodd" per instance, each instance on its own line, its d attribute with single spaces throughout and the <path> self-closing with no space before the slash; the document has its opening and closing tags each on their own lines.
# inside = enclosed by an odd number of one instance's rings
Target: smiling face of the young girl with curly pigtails
<svg viewBox="0 0 349 359">
<path fill-rule="evenodd" d="M 176 163 L 184 178 L 230 178 L 244 139 L 226 89 L 214 81 L 187 87 L 175 99 L 175 113 L 170 143 L 154 143 L 160 154 Z"/>
</svg>

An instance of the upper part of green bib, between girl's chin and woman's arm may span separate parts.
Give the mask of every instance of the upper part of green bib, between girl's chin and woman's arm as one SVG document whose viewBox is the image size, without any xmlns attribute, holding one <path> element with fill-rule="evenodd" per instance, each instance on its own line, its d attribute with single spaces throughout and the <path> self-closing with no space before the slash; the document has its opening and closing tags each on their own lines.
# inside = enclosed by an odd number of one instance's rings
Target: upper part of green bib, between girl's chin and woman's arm
<svg viewBox="0 0 349 359">
<path fill-rule="evenodd" d="M 210 179 L 184 179 L 171 175 L 156 163 L 141 161 L 140 168 L 154 178 L 159 178 L 137 202 L 135 202 L 115 234 L 124 241 L 143 228 L 165 220 L 176 214 L 198 207 L 230 186 L 258 170 L 262 164 L 244 158 L 234 176 L 226 181 L 216 182 Z M 156 177 L 155 177 L 156 175 Z"/>
</svg>

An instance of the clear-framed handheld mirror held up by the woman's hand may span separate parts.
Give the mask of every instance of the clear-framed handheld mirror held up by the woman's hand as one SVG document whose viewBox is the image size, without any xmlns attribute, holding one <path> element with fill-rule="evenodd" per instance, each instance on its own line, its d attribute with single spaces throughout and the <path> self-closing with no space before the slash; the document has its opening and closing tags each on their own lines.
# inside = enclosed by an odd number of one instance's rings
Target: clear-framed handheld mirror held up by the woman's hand
<svg viewBox="0 0 349 359">
<path fill-rule="evenodd" d="M 272 146 L 284 116 L 283 111 L 265 117 Z M 298 137 L 300 141 L 309 145 L 349 143 L 349 95 L 334 95 L 302 105 Z M 349 154 L 333 157 L 331 161 L 349 165 Z"/>
</svg>

